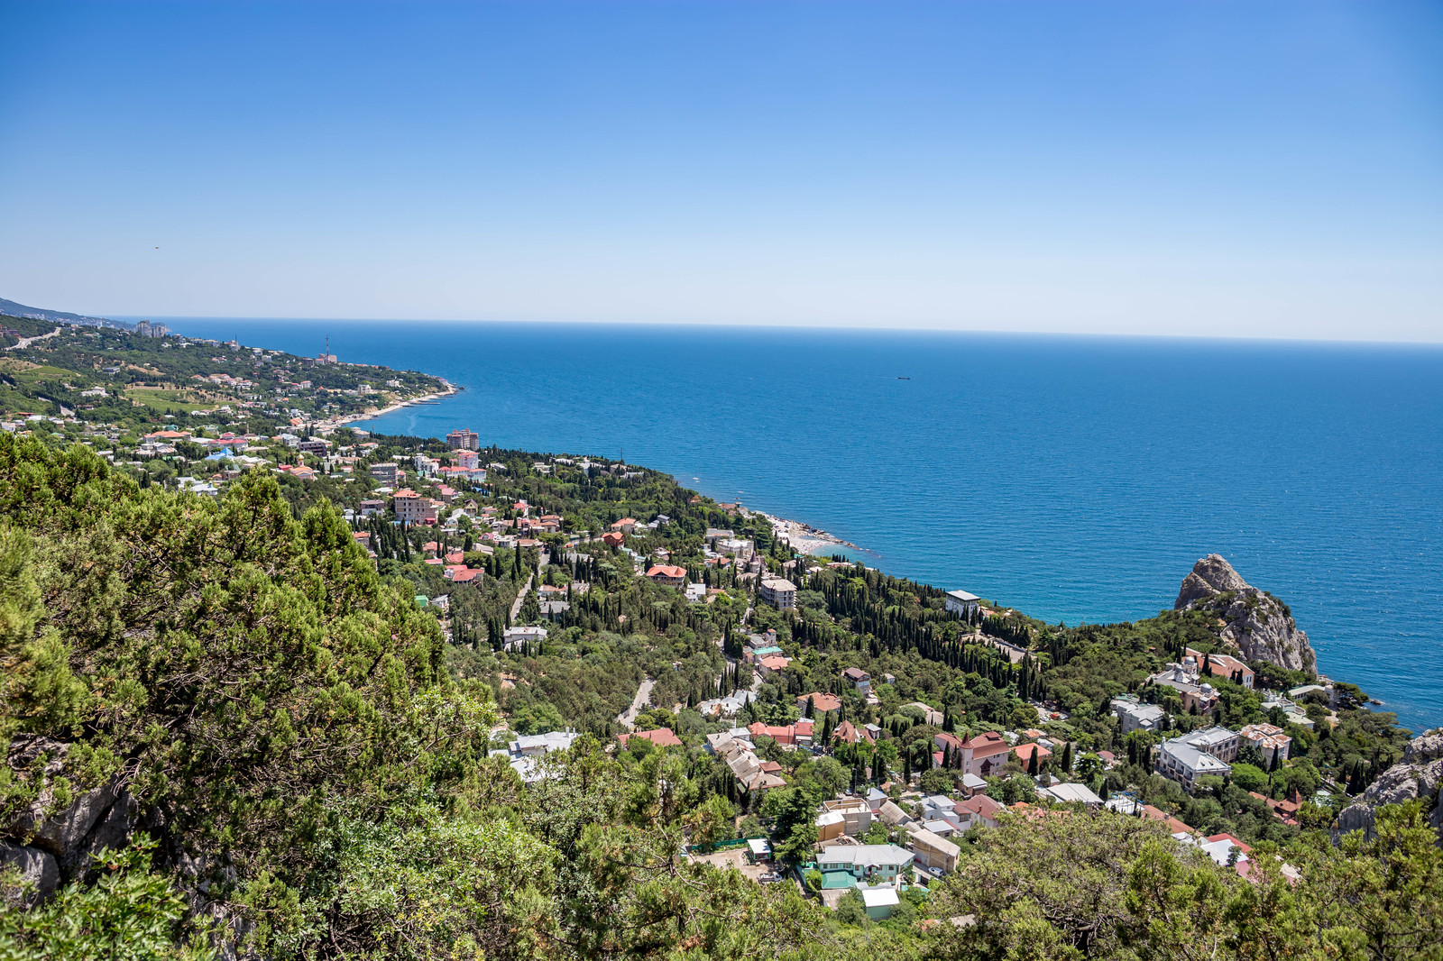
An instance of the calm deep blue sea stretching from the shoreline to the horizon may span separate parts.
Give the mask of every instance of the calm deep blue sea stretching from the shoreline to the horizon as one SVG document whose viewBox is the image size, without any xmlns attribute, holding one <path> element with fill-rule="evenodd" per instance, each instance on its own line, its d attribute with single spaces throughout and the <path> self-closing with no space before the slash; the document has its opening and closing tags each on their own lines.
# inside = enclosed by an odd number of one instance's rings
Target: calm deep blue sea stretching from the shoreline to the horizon
<svg viewBox="0 0 1443 961">
<path fill-rule="evenodd" d="M 1170 607 L 1219 553 L 1319 668 L 1443 724 L 1443 349 L 750 328 L 163 319 L 427 371 L 368 426 L 619 456 L 1048 620 Z M 908 379 L 900 379 L 908 378 Z"/>
</svg>

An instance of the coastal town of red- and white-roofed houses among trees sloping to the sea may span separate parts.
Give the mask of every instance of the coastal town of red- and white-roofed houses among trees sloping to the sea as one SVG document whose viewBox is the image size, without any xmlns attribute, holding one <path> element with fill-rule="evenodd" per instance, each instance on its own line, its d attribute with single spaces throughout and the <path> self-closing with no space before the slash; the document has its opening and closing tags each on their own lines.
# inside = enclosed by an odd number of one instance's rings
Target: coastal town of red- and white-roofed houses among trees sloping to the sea
<svg viewBox="0 0 1443 961">
<path fill-rule="evenodd" d="M 182 349 L 156 330 L 107 336 Z M 232 404 L 144 407 L 149 424 L 136 401 L 108 423 L 58 404 L 6 410 L 0 426 L 88 447 L 141 488 L 224 501 L 268 478 L 297 518 L 333 505 L 355 550 L 434 622 L 447 670 L 485 684 L 489 759 L 518 791 L 547 791 L 583 750 L 626 766 L 674 756 L 707 785 L 687 861 L 792 886 L 856 923 L 938 919 L 988 833 L 1059 817 L 1156 824 L 1179 856 L 1258 880 L 1260 844 L 1371 824 L 1369 786 L 1414 750 L 1362 691 L 1310 668 L 1290 618 L 1271 661 L 1219 632 L 1212 610 L 1254 590 L 1222 558 L 1110 648 L 1102 629 L 833 558 L 840 541 L 823 531 L 638 465 L 501 450 L 469 426 L 371 434 L 364 410 L 261 401 L 254 375 L 231 374 L 245 356 L 291 377 L 333 369 L 329 351 L 185 345 L 216 351 L 192 377 Z M 20 372 L 46 349 L 63 345 L 29 346 Z M 87 382 L 71 387 L 110 397 Z M 368 384 L 326 397 L 359 401 Z M 381 381 L 381 398 L 407 403 L 401 384 Z M 430 387 L 416 397 L 453 390 Z M 1287 859 L 1274 867 L 1299 877 Z"/>
</svg>

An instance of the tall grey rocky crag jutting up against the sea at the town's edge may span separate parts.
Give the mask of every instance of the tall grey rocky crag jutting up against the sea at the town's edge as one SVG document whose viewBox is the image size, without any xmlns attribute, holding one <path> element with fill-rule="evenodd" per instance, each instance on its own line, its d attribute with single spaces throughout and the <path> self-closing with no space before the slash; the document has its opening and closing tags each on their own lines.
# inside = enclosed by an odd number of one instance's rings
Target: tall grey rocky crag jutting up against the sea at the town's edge
<svg viewBox="0 0 1443 961">
<path fill-rule="evenodd" d="M 1173 610 L 1208 610 L 1222 622 L 1218 636 L 1244 661 L 1267 661 L 1291 671 L 1316 671 L 1317 658 L 1293 612 L 1277 597 L 1250 586 L 1219 554 L 1192 566 Z"/>
</svg>

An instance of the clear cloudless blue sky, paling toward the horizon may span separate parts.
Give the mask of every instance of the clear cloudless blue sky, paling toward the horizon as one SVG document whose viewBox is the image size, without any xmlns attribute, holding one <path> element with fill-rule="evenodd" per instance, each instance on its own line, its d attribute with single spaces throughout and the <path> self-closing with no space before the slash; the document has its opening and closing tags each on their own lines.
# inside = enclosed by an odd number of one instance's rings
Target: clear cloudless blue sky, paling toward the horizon
<svg viewBox="0 0 1443 961">
<path fill-rule="evenodd" d="M 35 3 L 0 36 L 23 303 L 1443 341 L 1437 3 Z"/>
</svg>

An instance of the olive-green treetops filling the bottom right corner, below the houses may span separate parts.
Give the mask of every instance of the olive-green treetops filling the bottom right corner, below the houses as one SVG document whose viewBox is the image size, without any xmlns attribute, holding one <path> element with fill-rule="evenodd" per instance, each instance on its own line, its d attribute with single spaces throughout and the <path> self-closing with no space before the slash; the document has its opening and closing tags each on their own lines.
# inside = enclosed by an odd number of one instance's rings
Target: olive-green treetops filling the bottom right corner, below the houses
<svg viewBox="0 0 1443 961">
<path fill-rule="evenodd" d="M 1244 879 L 1152 821 L 1006 818 L 935 895 L 974 923 L 932 947 L 942 958 L 1439 958 L 1436 841 L 1421 804 L 1388 808 L 1372 840 L 1290 848 L 1293 877 L 1260 844 Z"/>
</svg>

